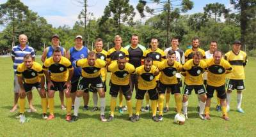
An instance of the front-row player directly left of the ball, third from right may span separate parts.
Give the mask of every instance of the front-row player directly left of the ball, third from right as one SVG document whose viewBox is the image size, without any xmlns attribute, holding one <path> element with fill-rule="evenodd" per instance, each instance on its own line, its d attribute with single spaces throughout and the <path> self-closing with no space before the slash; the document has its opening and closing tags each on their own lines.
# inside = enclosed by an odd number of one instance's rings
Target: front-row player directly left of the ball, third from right
<svg viewBox="0 0 256 137">
<path fill-rule="evenodd" d="M 163 106 L 164 106 L 164 94 L 166 89 L 170 90 L 172 94 L 175 94 L 175 103 L 177 107 L 177 113 L 181 113 L 182 109 L 182 97 L 180 94 L 180 87 L 178 80 L 176 78 L 176 73 L 182 71 L 182 65 L 175 61 L 176 52 L 173 50 L 169 50 L 167 54 L 167 59 L 157 65 L 161 74 L 159 76 L 159 99 L 158 99 L 158 106 L 159 106 L 159 120 L 163 120 Z"/>
</svg>

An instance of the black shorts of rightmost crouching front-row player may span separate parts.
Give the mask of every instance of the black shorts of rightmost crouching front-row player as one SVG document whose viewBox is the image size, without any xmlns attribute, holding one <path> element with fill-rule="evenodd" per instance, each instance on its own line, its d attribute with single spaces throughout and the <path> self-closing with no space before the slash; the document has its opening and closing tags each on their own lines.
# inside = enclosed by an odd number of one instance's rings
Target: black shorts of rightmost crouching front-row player
<svg viewBox="0 0 256 137">
<path fill-rule="evenodd" d="M 206 85 L 206 90 L 207 90 L 207 98 L 213 97 L 214 90 L 217 91 L 217 97 L 220 99 L 226 99 L 227 94 L 226 94 L 226 88 L 225 85 L 221 85 L 220 87 L 214 87 L 211 85 Z"/>
</svg>

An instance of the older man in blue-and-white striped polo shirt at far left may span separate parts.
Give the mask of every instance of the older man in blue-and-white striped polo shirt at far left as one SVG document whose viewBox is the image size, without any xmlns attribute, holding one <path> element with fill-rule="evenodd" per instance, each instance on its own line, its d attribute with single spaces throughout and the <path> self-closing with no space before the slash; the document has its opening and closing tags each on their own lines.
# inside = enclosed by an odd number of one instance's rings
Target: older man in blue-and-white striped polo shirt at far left
<svg viewBox="0 0 256 137">
<path fill-rule="evenodd" d="M 24 60 L 23 57 L 26 54 L 32 55 L 33 60 L 35 60 L 35 51 L 34 48 L 29 47 L 27 45 L 28 37 L 25 34 L 20 34 L 19 36 L 19 45 L 12 48 L 12 62 L 13 62 L 13 70 L 14 70 L 14 85 L 13 85 L 13 91 L 14 91 L 14 104 L 12 110 L 10 112 L 15 112 L 17 110 L 17 103 L 19 99 L 19 82 L 18 78 L 16 76 L 17 66 L 21 64 Z M 29 108 L 31 112 L 36 112 L 36 109 L 32 105 L 32 92 L 28 92 L 28 103 Z"/>
</svg>

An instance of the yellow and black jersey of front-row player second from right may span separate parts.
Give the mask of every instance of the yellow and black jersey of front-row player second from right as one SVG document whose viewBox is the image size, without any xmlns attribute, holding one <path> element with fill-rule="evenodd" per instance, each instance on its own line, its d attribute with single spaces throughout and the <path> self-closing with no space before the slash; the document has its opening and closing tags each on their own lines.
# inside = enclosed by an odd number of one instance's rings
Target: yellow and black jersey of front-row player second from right
<svg viewBox="0 0 256 137">
<path fill-rule="evenodd" d="M 189 59 L 183 66 L 182 73 L 185 73 L 186 85 L 202 85 L 204 83 L 202 74 L 207 69 L 207 64 L 200 60 L 198 65 L 195 65 L 193 59 Z"/>
</svg>

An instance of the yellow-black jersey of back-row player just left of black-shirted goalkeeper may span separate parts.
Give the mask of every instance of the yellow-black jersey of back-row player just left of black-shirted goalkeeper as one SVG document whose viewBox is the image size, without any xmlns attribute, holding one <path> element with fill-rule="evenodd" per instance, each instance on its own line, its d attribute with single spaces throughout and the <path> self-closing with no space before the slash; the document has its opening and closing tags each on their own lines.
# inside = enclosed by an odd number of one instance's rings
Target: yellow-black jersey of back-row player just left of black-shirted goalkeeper
<svg viewBox="0 0 256 137">
<path fill-rule="evenodd" d="M 125 57 L 125 59 L 128 61 L 129 60 L 128 51 L 123 47 L 121 47 L 119 50 L 116 50 L 115 47 L 108 50 L 107 61 L 109 62 L 109 64 L 112 63 L 113 61 L 116 61 L 119 57 Z"/>
</svg>

